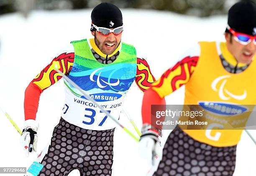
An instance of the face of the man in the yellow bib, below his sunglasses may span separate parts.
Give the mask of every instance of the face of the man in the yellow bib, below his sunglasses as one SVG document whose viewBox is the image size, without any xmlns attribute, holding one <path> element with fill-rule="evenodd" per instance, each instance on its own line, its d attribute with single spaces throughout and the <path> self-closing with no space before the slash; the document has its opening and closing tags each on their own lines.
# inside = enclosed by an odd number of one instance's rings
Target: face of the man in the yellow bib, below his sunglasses
<svg viewBox="0 0 256 176">
<path fill-rule="evenodd" d="M 248 43 L 247 45 L 242 45 L 234 39 L 234 36 L 229 33 L 225 33 L 225 38 L 227 41 L 227 48 L 229 52 L 236 58 L 240 63 L 250 63 L 256 53 L 256 45 Z"/>
</svg>

